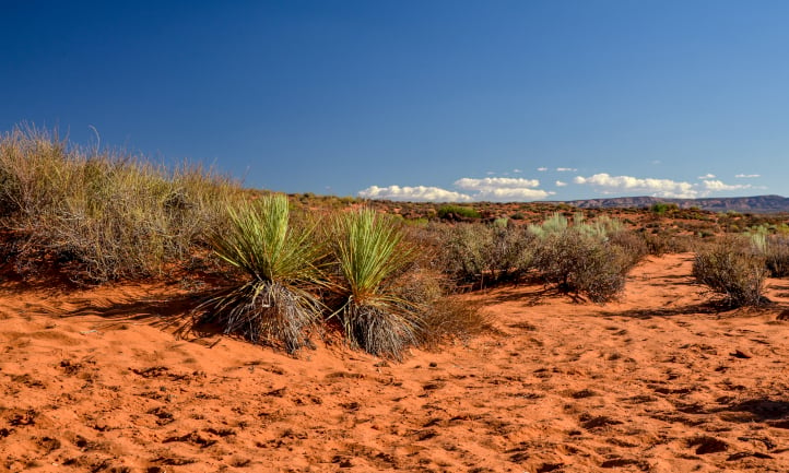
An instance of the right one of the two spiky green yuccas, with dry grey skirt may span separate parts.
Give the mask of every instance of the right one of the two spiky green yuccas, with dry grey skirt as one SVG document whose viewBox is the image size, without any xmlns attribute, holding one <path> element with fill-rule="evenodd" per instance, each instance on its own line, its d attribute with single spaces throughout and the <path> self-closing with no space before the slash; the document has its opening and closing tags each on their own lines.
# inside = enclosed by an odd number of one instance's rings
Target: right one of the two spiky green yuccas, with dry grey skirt
<svg viewBox="0 0 789 473">
<path fill-rule="evenodd" d="M 388 285 L 413 258 L 402 228 L 388 215 L 358 209 L 338 214 L 332 234 L 342 297 L 335 316 L 345 336 L 370 354 L 402 359 L 420 327 L 417 304 Z"/>
</svg>

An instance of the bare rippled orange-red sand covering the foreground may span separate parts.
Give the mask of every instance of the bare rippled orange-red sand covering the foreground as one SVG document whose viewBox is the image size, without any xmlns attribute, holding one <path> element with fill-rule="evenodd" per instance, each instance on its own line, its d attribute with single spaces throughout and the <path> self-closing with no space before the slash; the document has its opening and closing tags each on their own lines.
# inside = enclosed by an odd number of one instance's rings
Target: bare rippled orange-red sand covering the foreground
<svg viewBox="0 0 789 473">
<path fill-rule="evenodd" d="M 605 306 L 475 295 L 499 334 L 403 364 L 179 336 L 172 287 L 5 284 L 0 471 L 789 471 L 789 282 L 718 312 L 690 269 L 650 259 Z"/>
</svg>

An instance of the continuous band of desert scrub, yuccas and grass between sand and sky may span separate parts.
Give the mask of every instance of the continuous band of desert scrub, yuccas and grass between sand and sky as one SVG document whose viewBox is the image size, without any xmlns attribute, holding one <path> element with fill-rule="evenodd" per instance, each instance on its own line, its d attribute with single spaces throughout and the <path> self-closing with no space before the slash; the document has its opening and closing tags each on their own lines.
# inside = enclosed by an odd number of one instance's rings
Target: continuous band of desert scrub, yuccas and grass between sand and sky
<svg viewBox="0 0 789 473">
<path fill-rule="evenodd" d="M 331 224 L 314 232 L 307 213 Z M 351 344 L 394 359 L 487 327 L 475 306 L 449 297 L 457 289 L 538 277 L 605 303 L 646 255 L 691 247 L 700 248 L 697 281 L 732 306 L 763 304 L 767 273 L 789 274 L 779 216 L 276 196 L 33 128 L 0 138 L 0 229 L 5 271 L 101 284 L 211 268 L 226 284 L 199 321 L 293 353 L 337 320 Z M 740 237 L 716 244 L 727 233 Z"/>
</svg>

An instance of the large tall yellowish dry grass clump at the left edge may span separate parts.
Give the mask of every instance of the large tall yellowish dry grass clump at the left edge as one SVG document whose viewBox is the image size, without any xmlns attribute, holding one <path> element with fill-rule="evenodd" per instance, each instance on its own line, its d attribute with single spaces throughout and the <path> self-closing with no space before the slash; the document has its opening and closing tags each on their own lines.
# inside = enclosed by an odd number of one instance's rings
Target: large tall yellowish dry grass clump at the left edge
<svg viewBox="0 0 789 473">
<path fill-rule="evenodd" d="M 161 274 L 224 225 L 237 193 L 199 167 L 72 149 L 31 128 L 0 137 L 0 224 L 21 272 L 49 264 L 91 283 Z"/>
</svg>

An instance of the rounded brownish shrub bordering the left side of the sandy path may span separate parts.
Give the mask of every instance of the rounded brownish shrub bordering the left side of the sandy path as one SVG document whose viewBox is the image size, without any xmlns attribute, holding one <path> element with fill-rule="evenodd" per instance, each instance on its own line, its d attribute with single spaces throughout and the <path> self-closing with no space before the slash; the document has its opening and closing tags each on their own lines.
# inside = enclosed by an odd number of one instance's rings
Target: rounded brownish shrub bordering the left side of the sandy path
<svg viewBox="0 0 789 473">
<path fill-rule="evenodd" d="M 530 232 L 539 239 L 534 265 L 541 276 L 562 291 L 596 303 L 613 299 L 640 259 L 628 252 L 625 244 L 636 244 L 620 235 L 623 229 L 615 221 L 589 223 L 576 215 L 570 226 L 565 217 L 554 214 L 543 225 L 531 226 Z"/>
</svg>

